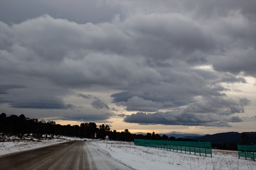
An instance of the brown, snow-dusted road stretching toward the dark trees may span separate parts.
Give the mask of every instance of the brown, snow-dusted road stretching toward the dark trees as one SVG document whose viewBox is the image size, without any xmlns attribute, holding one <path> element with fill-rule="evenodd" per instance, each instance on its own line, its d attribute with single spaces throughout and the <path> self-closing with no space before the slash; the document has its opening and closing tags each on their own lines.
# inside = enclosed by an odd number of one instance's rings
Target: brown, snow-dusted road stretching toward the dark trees
<svg viewBox="0 0 256 170">
<path fill-rule="evenodd" d="M 0 156 L 0 170 L 130 170 L 92 142 L 71 141 Z"/>
</svg>

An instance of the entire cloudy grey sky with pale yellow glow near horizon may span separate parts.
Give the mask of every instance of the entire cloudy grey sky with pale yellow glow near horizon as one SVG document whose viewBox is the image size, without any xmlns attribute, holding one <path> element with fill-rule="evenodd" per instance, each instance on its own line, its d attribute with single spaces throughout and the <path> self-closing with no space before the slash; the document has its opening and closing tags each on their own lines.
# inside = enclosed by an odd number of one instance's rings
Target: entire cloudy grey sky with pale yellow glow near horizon
<svg viewBox="0 0 256 170">
<path fill-rule="evenodd" d="M 0 1 L 0 112 L 131 132 L 256 131 L 256 1 Z"/>
</svg>

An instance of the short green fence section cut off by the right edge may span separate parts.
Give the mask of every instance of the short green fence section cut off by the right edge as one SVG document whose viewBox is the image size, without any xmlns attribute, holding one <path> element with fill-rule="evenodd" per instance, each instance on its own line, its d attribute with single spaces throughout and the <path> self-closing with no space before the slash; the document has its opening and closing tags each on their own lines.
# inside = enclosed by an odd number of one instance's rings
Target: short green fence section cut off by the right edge
<svg viewBox="0 0 256 170">
<path fill-rule="evenodd" d="M 237 145 L 238 157 L 244 157 L 245 159 L 250 158 L 255 161 L 256 158 L 256 146 L 253 145 Z"/>
</svg>

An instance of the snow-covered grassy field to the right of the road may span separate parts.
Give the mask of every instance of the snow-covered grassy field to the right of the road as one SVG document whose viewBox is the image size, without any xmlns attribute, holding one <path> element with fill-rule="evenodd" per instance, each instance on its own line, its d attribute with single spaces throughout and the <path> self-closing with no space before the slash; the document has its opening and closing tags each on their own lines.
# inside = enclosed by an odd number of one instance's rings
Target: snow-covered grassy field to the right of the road
<svg viewBox="0 0 256 170">
<path fill-rule="evenodd" d="M 238 159 L 237 151 L 212 150 L 212 158 L 142 146 L 133 142 L 97 141 L 117 161 L 139 170 L 255 170 L 256 161 Z"/>
</svg>

